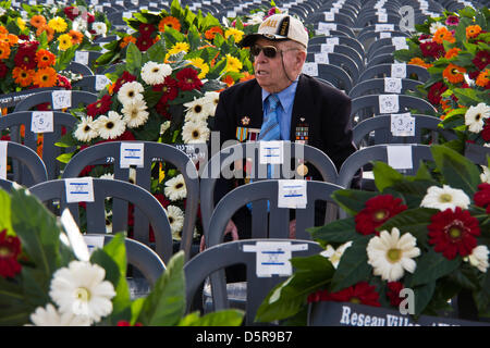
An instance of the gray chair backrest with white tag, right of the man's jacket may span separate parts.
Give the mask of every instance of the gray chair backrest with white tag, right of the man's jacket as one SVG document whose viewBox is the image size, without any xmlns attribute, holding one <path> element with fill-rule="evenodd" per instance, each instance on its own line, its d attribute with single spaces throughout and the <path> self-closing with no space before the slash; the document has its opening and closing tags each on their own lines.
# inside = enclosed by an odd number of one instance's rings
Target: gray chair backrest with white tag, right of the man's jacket
<svg viewBox="0 0 490 348">
<path fill-rule="evenodd" d="M 404 162 L 412 162 L 407 163 L 407 166 L 412 167 L 400 170 L 400 172 L 402 172 L 405 175 L 414 175 L 419 167 L 420 161 L 433 161 L 432 152 L 430 152 L 430 146 L 428 145 L 383 144 L 383 145 L 368 146 L 352 153 L 350 157 L 347 157 L 344 163 L 342 163 L 341 170 L 339 171 L 339 181 L 336 184 L 342 187 L 350 187 L 351 182 L 354 175 L 357 173 L 357 171 L 371 161 L 382 161 L 388 163 L 389 165 L 392 165 L 392 163 L 390 162 L 391 157 L 389 158 L 389 151 L 391 151 L 389 150 L 389 147 L 397 148 L 399 150 L 401 150 L 402 148 L 405 150 L 409 148 L 408 151 L 395 152 L 395 153 L 403 153 Z M 408 157 L 409 154 L 412 156 L 412 158 Z"/>
</svg>

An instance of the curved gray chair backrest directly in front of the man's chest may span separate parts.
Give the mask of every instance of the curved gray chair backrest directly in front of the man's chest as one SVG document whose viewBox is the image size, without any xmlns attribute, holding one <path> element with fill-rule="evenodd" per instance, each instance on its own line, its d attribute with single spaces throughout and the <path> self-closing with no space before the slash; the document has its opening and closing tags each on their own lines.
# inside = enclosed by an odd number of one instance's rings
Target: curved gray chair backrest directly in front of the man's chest
<svg viewBox="0 0 490 348">
<path fill-rule="evenodd" d="M 338 171 L 332 160 L 321 150 L 309 145 L 302 145 L 297 142 L 283 142 L 284 165 L 274 165 L 273 173 L 280 174 L 282 178 L 292 178 L 295 174 L 296 164 L 301 165 L 305 161 L 308 165 L 317 170 L 324 182 L 335 183 L 338 178 Z M 295 159 L 295 166 L 291 171 L 290 159 Z M 218 181 L 221 177 L 231 178 L 243 174 L 243 172 L 232 173 L 231 166 L 236 161 L 250 160 L 250 175 L 255 182 L 264 179 L 267 175 L 267 164 L 260 164 L 260 144 L 246 142 L 237 144 L 222 149 L 213 154 L 206 163 L 200 174 L 200 213 L 203 219 L 203 228 L 205 235 L 209 229 L 209 223 L 215 210 L 215 189 Z M 228 174 L 226 174 L 228 173 Z M 224 174 L 224 175 L 223 175 Z M 296 171 L 297 174 L 297 171 Z M 255 210 L 256 208 L 254 208 Z M 257 208 L 258 210 L 258 208 Z"/>
</svg>

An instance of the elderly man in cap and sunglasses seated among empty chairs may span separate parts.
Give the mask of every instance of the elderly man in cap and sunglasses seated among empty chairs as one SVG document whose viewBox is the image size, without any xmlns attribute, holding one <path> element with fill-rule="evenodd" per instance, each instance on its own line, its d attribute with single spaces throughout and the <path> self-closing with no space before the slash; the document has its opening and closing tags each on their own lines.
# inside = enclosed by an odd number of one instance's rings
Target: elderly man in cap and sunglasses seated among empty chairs
<svg viewBox="0 0 490 348">
<path fill-rule="evenodd" d="M 356 150 L 352 141 L 351 99 L 302 74 L 308 46 L 303 24 L 287 14 L 274 14 L 241 45 L 250 47 L 255 79 L 220 94 L 213 130 L 220 132 L 221 144 L 230 139 L 304 141 L 321 149 L 340 169 Z M 217 192 L 218 198 L 230 188 Z M 229 222 L 226 234 L 231 233 L 233 239 L 238 235 L 249 238 L 247 214 L 244 208 L 233 217 L 240 223 Z M 294 228 L 292 221 L 292 235 Z"/>
</svg>

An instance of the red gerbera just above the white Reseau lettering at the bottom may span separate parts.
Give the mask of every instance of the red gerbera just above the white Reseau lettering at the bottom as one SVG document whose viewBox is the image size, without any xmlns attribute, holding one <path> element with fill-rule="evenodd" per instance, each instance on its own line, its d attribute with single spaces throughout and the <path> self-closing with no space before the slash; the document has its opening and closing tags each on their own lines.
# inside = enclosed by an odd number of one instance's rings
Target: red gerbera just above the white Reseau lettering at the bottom
<svg viewBox="0 0 490 348">
<path fill-rule="evenodd" d="M 335 301 L 360 303 L 373 307 L 381 306 L 379 303 L 379 294 L 376 291 L 376 286 L 371 286 L 367 282 L 359 282 L 356 285 L 350 286 L 338 293 L 320 290 L 309 295 L 307 300 L 308 302 Z"/>
</svg>

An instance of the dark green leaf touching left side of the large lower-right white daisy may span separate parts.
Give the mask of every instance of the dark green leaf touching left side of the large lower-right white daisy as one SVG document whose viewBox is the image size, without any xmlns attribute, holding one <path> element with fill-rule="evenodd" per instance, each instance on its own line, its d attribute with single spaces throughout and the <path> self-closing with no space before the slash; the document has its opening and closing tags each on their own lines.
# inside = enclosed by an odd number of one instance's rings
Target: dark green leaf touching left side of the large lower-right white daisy
<svg viewBox="0 0 490 348">
<path fill-rule="evenodd" d="M 332 293 L 369 279 L 372 268 L 367 263 L 366 248 L 371 237 L 358 238 L 345 250 L 332 278 Z"/>
</svg>

